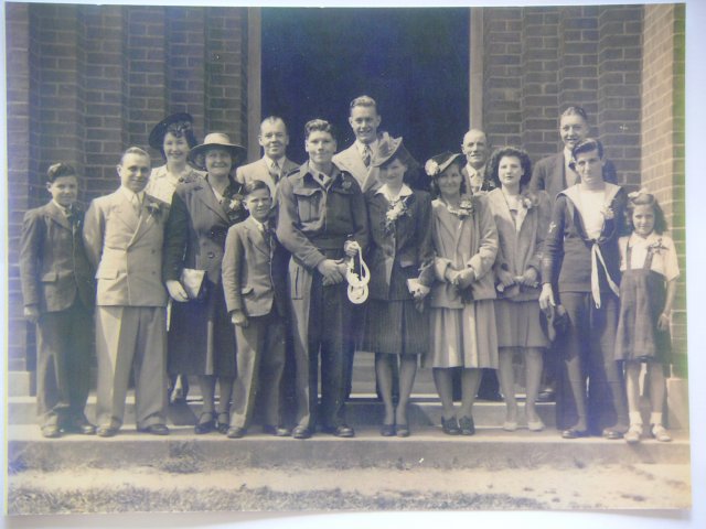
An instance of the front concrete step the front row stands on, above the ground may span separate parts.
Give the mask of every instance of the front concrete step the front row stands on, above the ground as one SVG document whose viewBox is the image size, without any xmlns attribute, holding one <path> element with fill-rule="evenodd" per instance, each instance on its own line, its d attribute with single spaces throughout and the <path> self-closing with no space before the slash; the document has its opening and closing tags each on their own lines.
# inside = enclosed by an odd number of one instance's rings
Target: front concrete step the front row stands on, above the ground
<svg viewBox="0 0 706 529">
<path fill-rule="evenodd" d="M 377 428 L 361 427 L 354 439 L 315 434 L 306 441 L 272 438 L 253 428 L 244 439 L 217 433 L 194 435 L 191 428 L 172 428 L 169 436 L 138 434 L 125 427 L 115 438 L 65 435 L 41 438 L 39 428 L 8 428 L 10 474 L 25 469 L 116 467 L 214 462 L 218 469 L 238 467 L 349 468 L 531 468 L 537 465 L 582 468 L 601 464 L 688 464 L 688 436 L 674 432 L 671 443 L 644 440 L 638 445 L 601 438 L 563 440 L 554 430 L 503 432 L 479 428 L 473 436 L 445 435 L 439 427 L 413 428 L 409 438 L 382 438 Z"/>
</svg>

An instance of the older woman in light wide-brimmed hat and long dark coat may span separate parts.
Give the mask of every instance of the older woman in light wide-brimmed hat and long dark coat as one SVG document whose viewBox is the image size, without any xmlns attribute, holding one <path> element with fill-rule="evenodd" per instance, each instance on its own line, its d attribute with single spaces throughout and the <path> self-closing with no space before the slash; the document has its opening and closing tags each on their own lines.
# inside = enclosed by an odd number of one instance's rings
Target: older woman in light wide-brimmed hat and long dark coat
<svg viewBox="0 0 706 529">
<path fill-rule="evenodd" d="M 221 261 L 228 228 L 247 217 L 242 186 L 232 175 L 245 152 L 245 148 L 231 143 L 227 134 L 206 136 L 189 156 L 191 163 L 206 171 L 206 176 L 191 176 L 176 186 L 167 222 L 162 277 L 174 301 L 169 369 L 199 376 L 203 409 L 194 428 L 196 433 L 216 429 L 226 433 L 229 427 L 235 334 L 221 285 Z M 193 292 L 199 290 L 197 281 L 189 295 L 184 288 L 186 276 L 193 276 L 194 270 L 205 271 L 205 277 L 199 295 Z"/>
</svg>

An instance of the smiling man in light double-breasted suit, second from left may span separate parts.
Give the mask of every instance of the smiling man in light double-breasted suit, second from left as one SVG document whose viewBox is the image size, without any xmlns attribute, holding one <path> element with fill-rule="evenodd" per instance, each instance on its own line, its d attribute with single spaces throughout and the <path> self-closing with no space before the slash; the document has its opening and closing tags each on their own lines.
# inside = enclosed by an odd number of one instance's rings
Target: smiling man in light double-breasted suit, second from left
<svg viewBox="0 0 706 529">
<path fill-rule="evenodd" d="M 125 151 L 117 170 L 120 188 L 93 201 L 84 224 L 86 252 L 98 280 L 97 434 L 118 433 L 135 368 L 137 429 L 167 435 L 167 291 L 161 267 L 169 205 L 145 193 L 150 158 L 142 149 Z"/>
</svg>

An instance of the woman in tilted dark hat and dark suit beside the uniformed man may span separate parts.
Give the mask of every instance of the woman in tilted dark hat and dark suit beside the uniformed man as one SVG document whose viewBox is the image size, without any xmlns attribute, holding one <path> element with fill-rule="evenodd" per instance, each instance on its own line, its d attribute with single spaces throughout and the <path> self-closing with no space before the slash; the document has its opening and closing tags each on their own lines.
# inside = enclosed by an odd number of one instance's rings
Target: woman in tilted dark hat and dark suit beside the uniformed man
<svg viewBox="0 0 706 529">
<path fill-rule="evenodd" d="M 381 433 L 409 435 L 407 402 L 417 373 L 417 358 L 428 344 L 422 300 L 434 281 L 431 198 L 406 183 L 408 153 L 402 138 L 381 141 L 373 165 L 379 187 L 365 193 L 371 249 L 370 295 L 363 350 L 375 353 L 375 374 L 385 404 Z M 394 363 L 399 358 L 399 401 L 393 402 Z"/>
</svg>

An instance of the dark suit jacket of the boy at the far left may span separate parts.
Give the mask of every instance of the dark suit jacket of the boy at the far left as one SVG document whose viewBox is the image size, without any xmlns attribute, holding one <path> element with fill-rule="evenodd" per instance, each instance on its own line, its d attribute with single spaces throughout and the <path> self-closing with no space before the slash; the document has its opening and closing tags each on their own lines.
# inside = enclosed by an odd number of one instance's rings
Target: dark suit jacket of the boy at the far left
<svg viewBox="0 0 706 529">
<path fill-rule="evenodd" d="M 20 241 L 25 306 L 58 312 L 68 309 L 78 296 L 85 307 L 93 307 L 94 271 L 81 233 L 84 212 L 75 205 L 72 215 L 69 220 L 53 201 L 25 213 Z"/>
</svg>

